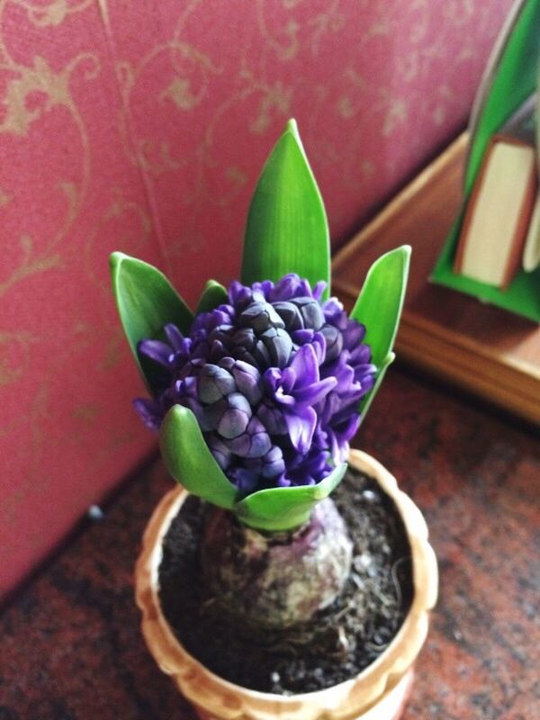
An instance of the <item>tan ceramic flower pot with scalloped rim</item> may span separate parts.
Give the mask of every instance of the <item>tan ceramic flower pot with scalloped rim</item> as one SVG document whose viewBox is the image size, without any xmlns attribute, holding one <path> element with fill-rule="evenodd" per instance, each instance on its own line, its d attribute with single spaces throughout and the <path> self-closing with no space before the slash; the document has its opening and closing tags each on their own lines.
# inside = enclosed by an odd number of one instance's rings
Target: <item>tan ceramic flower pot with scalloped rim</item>
<svg viewBox="0 0 540 720">
<path fill-rule="evenodd" d="M 437 561 L 419 509 L 398 489 L 383 465 L 357 450 L 349 463 L 372 476 L 394 502 L 412 555 L 413 599 L 386 650 L 356 678 L 331 688 L 282 696 L 235 685 L 207 670 L 176 639 L 160 608 L 158 568 L 162 542 L 187 492 L 175 488 L 161 500 L 148 523 L 136 567 L 136 598 L 142 632 L 162 671 L 171 675 L 202 720 L 397 720 L 412 681 L 412 667 L 428 633 L 428 613 L 437 601 Z"/>
</svg>

